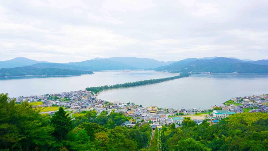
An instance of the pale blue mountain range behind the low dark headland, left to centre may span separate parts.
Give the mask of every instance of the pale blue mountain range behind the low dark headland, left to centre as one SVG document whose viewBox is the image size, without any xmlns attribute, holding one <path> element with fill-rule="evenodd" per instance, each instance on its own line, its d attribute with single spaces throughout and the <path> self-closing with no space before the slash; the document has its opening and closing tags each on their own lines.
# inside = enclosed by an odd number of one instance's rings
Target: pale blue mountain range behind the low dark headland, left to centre
<svg viewBox="0 0 268 151">
<path fill-rule="evenodd" d="M 59 68 L 59 69 L 73 69 L 73 70 L 103 71 L 103 70 L 157 68 L 159 66 L 165 66 L 173 62 L 174 61 L 163 62 L 154 59 L 136 58 L 136 57 L 112 57 L 112 58 L 95 58 L 82 62 L 50 63 L 43 61 L 38 62 L 24 57 L 18 57 L 7 61 L 1 61 L 0 68 L 33 66 L 37 68 Z"/>
</svg>

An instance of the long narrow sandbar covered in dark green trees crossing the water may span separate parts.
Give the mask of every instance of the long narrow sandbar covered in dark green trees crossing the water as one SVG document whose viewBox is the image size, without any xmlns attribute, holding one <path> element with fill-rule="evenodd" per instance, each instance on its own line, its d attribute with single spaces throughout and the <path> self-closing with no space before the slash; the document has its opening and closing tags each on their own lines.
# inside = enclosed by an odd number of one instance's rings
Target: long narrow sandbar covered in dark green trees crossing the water
<svg viewBox="0 0 268 151">
<path fill-rule="evenodd" d="M 121 88 L 121 87 L 135 87 L 135 86 L 140 86 L 140 85 L 148 85 L 148 84 L 154 84 L 154 83 L 164 82 L 164 81 L 168 81 L 168 80 L 174 80 L 174 79 L 188 77 L 188 76 L 190 76 L 190 73 L 180 73 L 179 76 L 173 76 L 173 77 L 168 77 L 168 78 L 143 80 L 143 81 L 136 81 L 136 82 L 127 82 L 127 83 L 116 84 L 116 85 L 104 85 L 104 86 L 100 86 L 100 87 L 88 87 L 88 88 L 86 88 L 86 90 L 97 94 L 98 92 L 100 92 L 104 89 L 114 89 L 114 88 Z"/>
</svg>

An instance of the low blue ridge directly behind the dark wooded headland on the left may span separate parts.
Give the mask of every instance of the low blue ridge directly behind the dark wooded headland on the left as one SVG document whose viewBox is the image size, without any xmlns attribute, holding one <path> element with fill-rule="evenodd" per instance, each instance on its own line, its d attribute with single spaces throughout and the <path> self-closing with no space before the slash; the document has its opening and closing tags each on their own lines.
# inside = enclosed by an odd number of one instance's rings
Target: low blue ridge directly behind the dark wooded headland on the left
<svg viewBox="0 0 268 151">
<path fill-rule="evenodd" d="M 38 63 L 31 65 L 36 68 L 58 68 L 58 69 L 70 69 L 70 70 L 90 70 L 88 67 L 83 66 L 74 66 L 70 64 L 61 64 L 61 63 Z"/>
</svg>

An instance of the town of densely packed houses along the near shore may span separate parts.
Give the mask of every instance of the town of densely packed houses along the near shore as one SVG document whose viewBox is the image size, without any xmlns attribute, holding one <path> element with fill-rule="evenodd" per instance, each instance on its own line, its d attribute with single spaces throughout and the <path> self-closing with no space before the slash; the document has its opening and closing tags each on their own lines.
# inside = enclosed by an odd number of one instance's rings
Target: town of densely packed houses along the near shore
<svg viewBox="0 0 268 151">
<path fill-rule="evenodd" d="M 157 106 L 143 107 L 132 102 L 108 102 L 97 99 L 97 95 L 90 91 L 71 91 L 60 94 L 44 94 L 40 96 L 20 96 L 15 99 L 16 103 L 27 101 L 33 108 L 40 108 L 40 114 L 52 115 L 58 107 L 64 107 L 70 113 L 72 119 L 83 116 L 89 110 L 96 110 L 97 115 L 107 110 L 122 113 L 131 117 L 129 121 L 122 122 L 122 126 L 134 127 L 136 124 L 150 124 L 152 129 L 161 128 L 163 125 L 175 124 L 182 127 L 185 117 L 191 117 L 196 124 L 206 121 L 210 124 L 219 122 L 222 118 L 232 114 L 243 112 L 265 112 L 268 113 L 268 94 L 260 96 L 244 96 L 232 98 L 221 105 L 212 105 L 210 109 L 198 110 L 196 108 L 159 108 Z"/>
</svg>

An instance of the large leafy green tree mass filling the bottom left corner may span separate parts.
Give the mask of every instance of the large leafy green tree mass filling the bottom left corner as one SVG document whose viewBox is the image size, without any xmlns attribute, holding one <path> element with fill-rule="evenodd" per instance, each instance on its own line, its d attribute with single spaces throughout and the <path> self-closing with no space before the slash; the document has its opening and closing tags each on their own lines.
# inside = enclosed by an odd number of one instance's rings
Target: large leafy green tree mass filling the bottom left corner
<svg viewBox="0 0 268 151">
<path fill-rule="evenodd" d="M 0 94 L 0 150 L 47 150 L 53 145 L 54 128 L 47 116 L 39 114 L 27 102 L 8 103 L 7 94 Z"/>
</svg>

